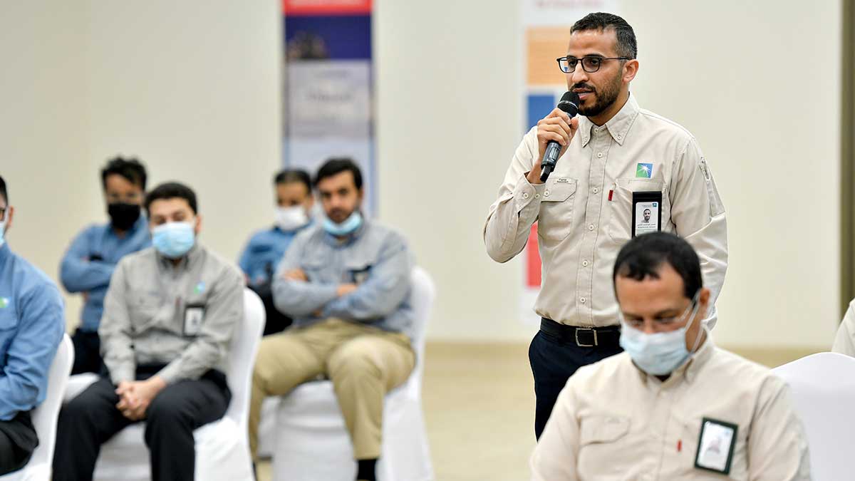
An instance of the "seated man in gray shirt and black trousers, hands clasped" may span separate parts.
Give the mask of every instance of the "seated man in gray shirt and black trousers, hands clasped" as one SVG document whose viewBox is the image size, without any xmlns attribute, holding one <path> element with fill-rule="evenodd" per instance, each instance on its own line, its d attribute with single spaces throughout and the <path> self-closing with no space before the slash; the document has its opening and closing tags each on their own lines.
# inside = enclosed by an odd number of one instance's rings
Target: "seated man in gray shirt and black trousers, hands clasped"
<svg viewBox="0 0 855 481">
<path fill-rule="evenodd" d="M 236 266 L 196 241 L 196 194 L 166 183 L 145 199 L 154 247 L 119 261 L 98 328 L 109 373 L 62 407 L 54 481 L 91 480 L 101 445 L 145 420 L 151 477 L 193 479 L 193 431 L 231 401 L 226 365 L 244 316 Z"/>
</svg>

